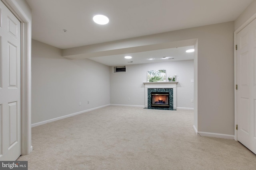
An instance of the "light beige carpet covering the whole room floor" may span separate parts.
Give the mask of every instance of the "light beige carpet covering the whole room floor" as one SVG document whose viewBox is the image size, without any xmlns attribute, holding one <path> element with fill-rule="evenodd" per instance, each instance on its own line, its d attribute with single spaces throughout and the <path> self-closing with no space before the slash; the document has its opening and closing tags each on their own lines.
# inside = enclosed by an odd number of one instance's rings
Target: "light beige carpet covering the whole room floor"
<svg viewBox="0 0 256 170">
<path fill-rule="evenodd" d="M 239 142 L 200 137 L 193 111 L 108 106 L 32 128 L 31 170 L 255 170 Z"/>
</svg>

